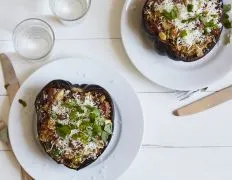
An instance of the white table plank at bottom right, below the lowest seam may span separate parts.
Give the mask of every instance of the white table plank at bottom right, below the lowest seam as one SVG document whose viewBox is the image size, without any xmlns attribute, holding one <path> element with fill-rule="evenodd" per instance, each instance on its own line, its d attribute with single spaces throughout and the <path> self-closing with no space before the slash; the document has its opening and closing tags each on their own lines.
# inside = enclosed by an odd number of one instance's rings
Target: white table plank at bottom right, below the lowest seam
<svg viewBox="0 0 232 180">
<path fill-rule="evenodd" d="M 231 180 L 231 151 L 232 148 L 142 148 L 119 180 Z"/>
</svg>

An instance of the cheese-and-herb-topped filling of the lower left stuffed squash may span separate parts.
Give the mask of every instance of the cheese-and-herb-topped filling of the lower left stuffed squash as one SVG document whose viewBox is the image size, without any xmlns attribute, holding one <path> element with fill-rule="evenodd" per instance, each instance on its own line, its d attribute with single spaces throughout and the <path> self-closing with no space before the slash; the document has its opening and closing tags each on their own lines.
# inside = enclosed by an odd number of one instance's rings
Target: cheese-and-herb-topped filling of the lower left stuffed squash
<svg viewBox="0 0 232 180">
<path fill-rule="evenodd" d="M 46 151 L 53 158 L 77 168 L 89 158 L 96 159 L 108 143 L 108 137 L 112 134 L 112 120 L 107 119 L 109 115 L 100 108 L 105 108 L 108 102 L 102 94 L 65 89 L 54 92 L 55 98 L 48 102 L 48 125 L 45 121 L 47 127 L 42 129 L 40 140 L 51 143 Z"/>
</svg>

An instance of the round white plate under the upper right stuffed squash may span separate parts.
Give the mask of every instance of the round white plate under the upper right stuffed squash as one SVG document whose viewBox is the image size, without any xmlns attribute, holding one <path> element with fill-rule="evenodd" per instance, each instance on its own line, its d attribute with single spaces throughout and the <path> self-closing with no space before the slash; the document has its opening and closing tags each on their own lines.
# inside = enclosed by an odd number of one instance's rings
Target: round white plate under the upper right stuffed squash
<svg viewBox="0 0 232 180">
<path fill-rule="evenodd" d="M 231 68 L 231 46 L 216 47 L 201 60 L 185 63 L 158 55 L 142 28 L 142 7 L 146 0 L 127 0 L 121 17 L 125 50 L 135 67 L 151 81 L 170 89 L 193 90 L 207 87 Z"/>
</svg>

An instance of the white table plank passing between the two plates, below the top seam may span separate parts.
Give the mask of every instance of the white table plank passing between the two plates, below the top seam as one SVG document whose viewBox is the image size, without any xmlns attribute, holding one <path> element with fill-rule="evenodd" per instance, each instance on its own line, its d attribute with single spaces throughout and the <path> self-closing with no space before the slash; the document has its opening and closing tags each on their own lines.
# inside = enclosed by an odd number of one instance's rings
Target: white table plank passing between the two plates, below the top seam
<svg viewBox="0 0 232 180">
<path fill-rule="evenodd" d="M 11 42 L 0 42 L 0 52 L 7 52 L 12 59 L 20 82 L 48 62 L 28 63 L 14 53 Z M 150 82 L 134 68 L 124 52 L 121 40 L 57 40 L 49 60 L 65 57 L 89 57 L 110 64 L 132 84 L 137 92 L 170 91 Z M 4 94 L 0 91 L 1 93 Z"/>
</svg>

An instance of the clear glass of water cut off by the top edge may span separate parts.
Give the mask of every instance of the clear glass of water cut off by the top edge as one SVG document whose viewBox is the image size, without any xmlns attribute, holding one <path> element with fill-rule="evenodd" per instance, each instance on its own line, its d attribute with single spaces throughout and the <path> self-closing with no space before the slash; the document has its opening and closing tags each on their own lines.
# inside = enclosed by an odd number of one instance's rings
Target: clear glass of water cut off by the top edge
<svg viewBox="0 0 232 180">
<path fill-rule="evenodd" d="M 53 14 L 64 24 L 77 22 L 87 14 L 91 0 L 50 0 Z"/>
</svg>

